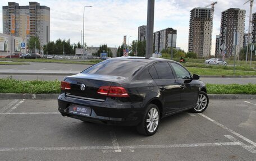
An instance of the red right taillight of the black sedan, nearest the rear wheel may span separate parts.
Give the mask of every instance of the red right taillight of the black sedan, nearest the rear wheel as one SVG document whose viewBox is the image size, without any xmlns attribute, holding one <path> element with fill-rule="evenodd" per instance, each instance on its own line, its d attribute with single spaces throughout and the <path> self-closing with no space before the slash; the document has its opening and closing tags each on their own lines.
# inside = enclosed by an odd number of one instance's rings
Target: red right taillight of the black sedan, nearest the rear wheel
<svg viewBox="0 0 256 161">
<path fill-rule="evenodd" d="M 129 97 L 125 88 L 120 86 L 101 86 L 98 91 L 98 94 L 103 94 L 106 96 L 114 96 L 114 97 Z"/>
</svg>

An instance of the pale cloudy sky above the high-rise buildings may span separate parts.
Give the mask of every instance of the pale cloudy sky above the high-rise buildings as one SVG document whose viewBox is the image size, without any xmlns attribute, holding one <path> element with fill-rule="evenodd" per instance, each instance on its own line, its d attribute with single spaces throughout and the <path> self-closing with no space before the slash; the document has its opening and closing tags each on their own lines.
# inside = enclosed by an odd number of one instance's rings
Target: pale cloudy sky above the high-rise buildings
<svg viewBox="0 0 256 161">
<path fill-rule="evenodd" d="M 217 1 L 214 11 L 212 54 L 215 52 L 215 38 L 220 34 L 221 12 L 228 8 L 246 11 L 245 30 L 248 29 L 250 3 L 247 0 Z M 28 6 L 29 1 L 1 0 L 0 6 L 8 2 Z M 127 35 L 127 43 L 138 39 L 138 27 L 147 25 L 147 0 L 37 0 L 41 6 L 51 8 L 50 39 L 70 39 L 71 43 L 81 42 L 83 30 L 83 6 L 85 7 L 85 37 L 88 46 L 118 47 Z M 177 30 L 177 47 L 188 51 L 190 11 L 195 7 L 205 7 L 212 0 L 156 0 L 154 10 L 154 32 L 171 27 Z M 254 2 L 252 13 L 256 12 Z M 3 32 L 2 7 L 0 8 L 0 33 Z"/>
</svg>

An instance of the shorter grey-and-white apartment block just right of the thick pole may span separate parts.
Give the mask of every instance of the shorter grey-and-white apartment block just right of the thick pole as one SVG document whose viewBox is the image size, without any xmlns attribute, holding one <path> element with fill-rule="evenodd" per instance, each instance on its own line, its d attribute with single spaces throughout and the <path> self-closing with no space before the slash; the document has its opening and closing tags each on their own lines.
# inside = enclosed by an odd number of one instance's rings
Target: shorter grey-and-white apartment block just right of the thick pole
<svg viewBox="0 0 256 161">
<path fill-rule="evenodd" d="M 154 33 L 154 52 L 161 52 L 168 47 L 176 48 L 177 30 L 167 28 Z"/>
</svg>

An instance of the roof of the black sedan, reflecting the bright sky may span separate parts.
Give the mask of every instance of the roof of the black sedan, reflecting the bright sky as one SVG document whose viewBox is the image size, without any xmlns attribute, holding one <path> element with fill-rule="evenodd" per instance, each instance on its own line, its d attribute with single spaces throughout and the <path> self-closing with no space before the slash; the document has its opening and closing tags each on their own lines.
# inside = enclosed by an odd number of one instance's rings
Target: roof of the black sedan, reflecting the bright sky
<svg viewBox="0 0 256 161">
<path fill-rule="evenodd" d="M 158 61 L 171 61 L 170 59 L 163 59 L 163 58 L 147 58 L 147 57 L 117 57 L 117 58 L 112 58 L 112 59 L 107 59 L 106 61 L 140 61 L 140 62 L 158 62 Z M 175 61 L 171 61 L 175 62 Z"/>
</svg>

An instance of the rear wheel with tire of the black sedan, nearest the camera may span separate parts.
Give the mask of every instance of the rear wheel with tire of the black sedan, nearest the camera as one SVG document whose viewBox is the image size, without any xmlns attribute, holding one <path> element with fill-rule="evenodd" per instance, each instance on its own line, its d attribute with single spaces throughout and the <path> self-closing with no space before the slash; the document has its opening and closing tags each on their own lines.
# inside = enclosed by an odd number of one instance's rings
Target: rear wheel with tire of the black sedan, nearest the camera
<svg viewBox="0 0 256 161">
<path fill-rule="evenodd" d="M 157 113 L 156 113 L 157 112 Z M 149 104 L 145 110 L 142 121 L 137 125 L 141 135 L 152 136 L 156 134 L 160 123 L 160 111 L 156 104 Z"/>
</svg>

